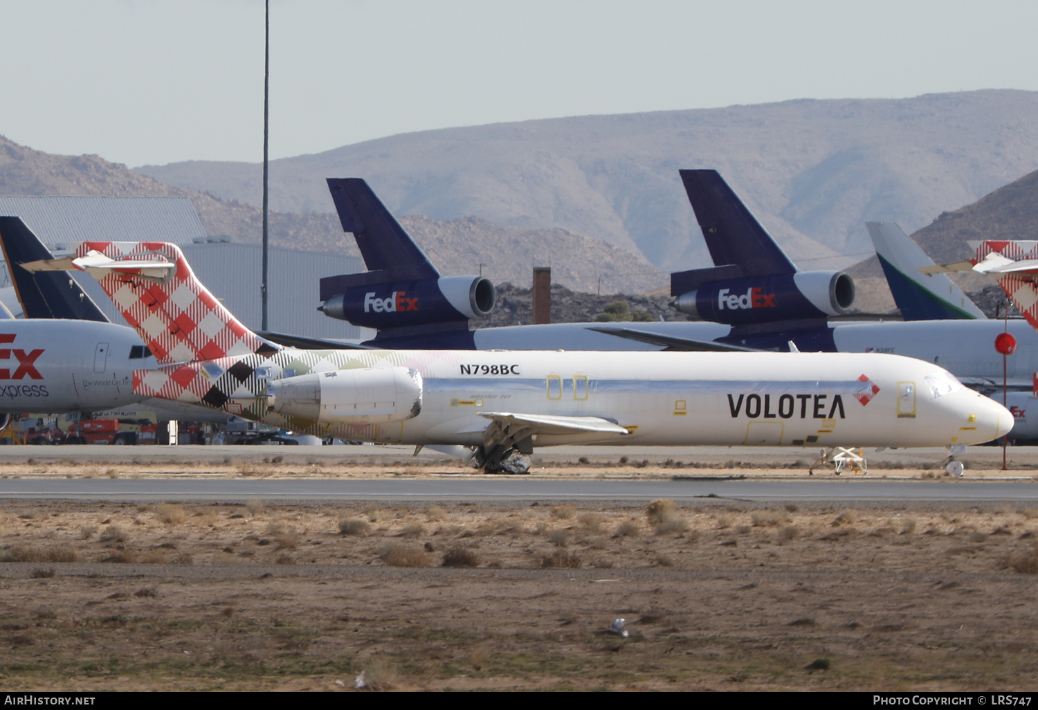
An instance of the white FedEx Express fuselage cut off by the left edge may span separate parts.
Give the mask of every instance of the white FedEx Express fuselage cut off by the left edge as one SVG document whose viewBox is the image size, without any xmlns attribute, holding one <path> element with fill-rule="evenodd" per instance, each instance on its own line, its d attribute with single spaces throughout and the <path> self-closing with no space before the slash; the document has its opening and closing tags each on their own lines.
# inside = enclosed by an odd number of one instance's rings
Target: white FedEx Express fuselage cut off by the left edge
<svg viewBox="0 0 1038 710">
<path fill-rule="evenodd" d="M 0 413 L 74 412 L 144 398 L 133 371 L 154 367 L 126 326 L 93 321 L 0 321 Z"/>
</svg>

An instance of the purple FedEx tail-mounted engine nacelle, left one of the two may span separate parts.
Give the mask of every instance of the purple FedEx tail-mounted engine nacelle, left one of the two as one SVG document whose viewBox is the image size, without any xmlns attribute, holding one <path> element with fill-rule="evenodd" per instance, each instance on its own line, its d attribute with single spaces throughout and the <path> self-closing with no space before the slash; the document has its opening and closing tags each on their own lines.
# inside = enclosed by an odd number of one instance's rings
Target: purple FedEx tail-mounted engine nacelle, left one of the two
<svg viewBox="0 0 1038 710">
<path fill-rule="evenodd" d="M 331 276 L 321 279 L 321 293 L 334 292 Z M 443 276 L 421 281 L 355 285 L 326 298 L 325 316 L 367 328 L 400 328 L 467 321 L 494 309 L 497 292 L 481 276 Z"/>
</svg>

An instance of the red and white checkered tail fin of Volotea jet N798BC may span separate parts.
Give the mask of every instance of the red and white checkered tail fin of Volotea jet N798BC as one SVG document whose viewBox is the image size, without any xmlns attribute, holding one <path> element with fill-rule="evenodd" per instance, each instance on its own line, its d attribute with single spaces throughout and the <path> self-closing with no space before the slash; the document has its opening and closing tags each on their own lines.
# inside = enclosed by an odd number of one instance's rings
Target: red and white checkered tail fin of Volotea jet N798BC
<svg viewBox="0 0 1038 710">
<path fill-rule="evenodd" d="M 84 242 L 76 253 L 160 364 L 281 349 L 216 300 L 175 244 Z"/>
</svg>

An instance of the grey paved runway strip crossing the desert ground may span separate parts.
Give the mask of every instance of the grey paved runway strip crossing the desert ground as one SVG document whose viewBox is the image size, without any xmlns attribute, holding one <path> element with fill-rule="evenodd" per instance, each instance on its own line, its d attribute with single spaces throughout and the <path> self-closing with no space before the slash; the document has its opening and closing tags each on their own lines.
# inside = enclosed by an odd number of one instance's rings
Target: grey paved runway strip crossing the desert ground
<svg viewBox="0 0 1038 710">
<path fill-rule="evenodd" d="M 723 500 L 753 502 L 831 501 L 864 503 L 974 503 L 1038 501 L 1038 483 L 1027 481 L 546 481 L 457 476 L 380 480 L 212 480 L 212 479 L 3 479 L 0 499 L 77 501 L 280 503 L 434 501 L 618 501 L 674 498 L 703 504 Z"/>
</svg>

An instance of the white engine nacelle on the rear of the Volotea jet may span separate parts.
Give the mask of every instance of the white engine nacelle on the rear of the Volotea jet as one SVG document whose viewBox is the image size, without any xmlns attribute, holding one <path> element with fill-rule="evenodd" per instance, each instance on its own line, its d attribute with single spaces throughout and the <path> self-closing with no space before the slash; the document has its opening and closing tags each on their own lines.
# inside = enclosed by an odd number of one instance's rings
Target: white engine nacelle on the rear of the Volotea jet
<svg viewBox="0 0 1038 710">
<path fill-rule="evenodd" d="M 421 411 L 421 374 L 365 367 L 275 380 L 267 388 L 267 410 L 322 422 L 403 421 Z"/>
</svg>

